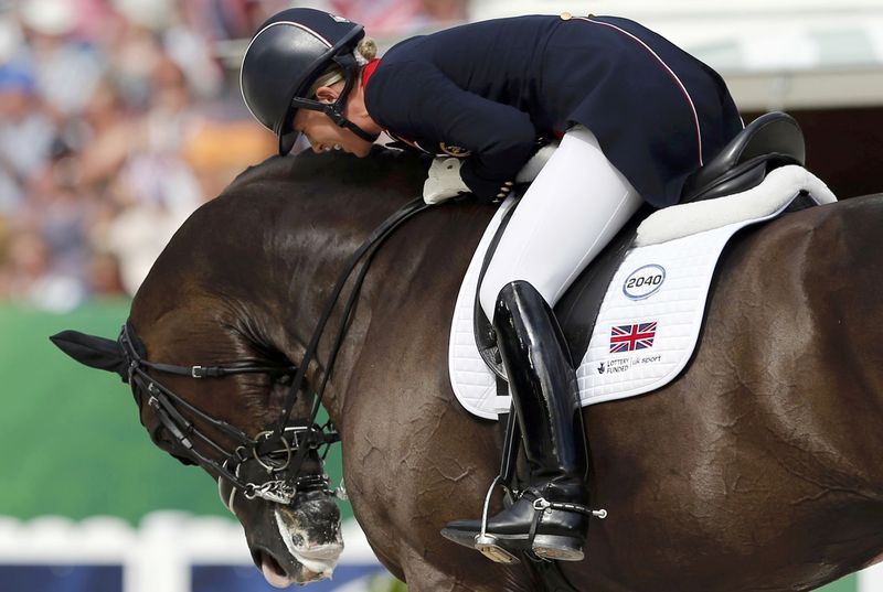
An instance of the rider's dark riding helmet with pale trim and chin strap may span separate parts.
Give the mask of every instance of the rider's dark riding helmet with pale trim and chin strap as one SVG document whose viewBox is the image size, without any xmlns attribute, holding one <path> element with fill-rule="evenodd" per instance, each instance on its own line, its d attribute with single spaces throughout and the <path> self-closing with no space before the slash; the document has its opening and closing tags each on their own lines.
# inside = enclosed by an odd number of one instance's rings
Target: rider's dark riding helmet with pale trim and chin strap
<svg viewBox="0 0 883 592">
<path fill-rule="evenodd" d="M 279 137 L 279 154 L 290 152 L 297 141 L 291 120 L 298 109 L 322 111 L 360 138 L 376 140 L 343 117 L 359 77 L 353 50 L 363 36 L 361 24 L 321 10 L 292 8 L 270 17 L 252 37 L 240 72 L 242 96 L 255 119 Z M 308 97 L 310 86 L 333 64 L 345 79 L 338 100 L 327 105 Z"/>
</svg>

